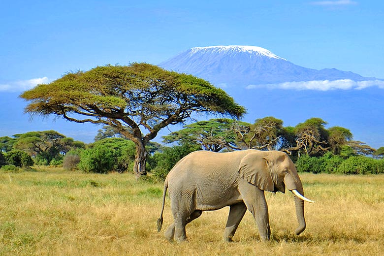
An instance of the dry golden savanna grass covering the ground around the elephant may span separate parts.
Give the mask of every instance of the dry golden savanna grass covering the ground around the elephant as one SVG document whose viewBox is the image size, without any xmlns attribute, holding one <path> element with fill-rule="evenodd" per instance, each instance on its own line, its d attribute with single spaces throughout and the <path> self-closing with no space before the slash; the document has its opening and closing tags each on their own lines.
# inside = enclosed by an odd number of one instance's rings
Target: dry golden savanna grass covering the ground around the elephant
<svg viewBox="0 0 384 256">
<path fill-rule="evenodd" d="M 384 175 L 300 174 L 307 229 L 296 227 L 293 196 L 266 193 L 272 237 L 259 240 L 248 212 L 233 243 L 222 240 L 228 207 L 187 225 L 188 242 L 169 243 L 156 221 L 162 183 L 132 174 L 62 169 L 0 173 L 0 256 L 384 255 Z"/>
</svg>

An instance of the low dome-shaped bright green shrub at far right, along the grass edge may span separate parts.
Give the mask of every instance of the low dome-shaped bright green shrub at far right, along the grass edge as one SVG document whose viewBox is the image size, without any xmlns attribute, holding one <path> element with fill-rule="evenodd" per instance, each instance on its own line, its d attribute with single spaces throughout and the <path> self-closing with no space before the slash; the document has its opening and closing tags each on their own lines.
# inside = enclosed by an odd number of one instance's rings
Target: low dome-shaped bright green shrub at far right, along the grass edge
<svg viewBox="0 0 384 256">
<path fill-rule="evenodd" d="M 344 160 L 339 165 L 337 172 L 343 174 L 370 174 L 377 173 L 377 167 L 374 159 L 358 156 Z"/>
</svg>

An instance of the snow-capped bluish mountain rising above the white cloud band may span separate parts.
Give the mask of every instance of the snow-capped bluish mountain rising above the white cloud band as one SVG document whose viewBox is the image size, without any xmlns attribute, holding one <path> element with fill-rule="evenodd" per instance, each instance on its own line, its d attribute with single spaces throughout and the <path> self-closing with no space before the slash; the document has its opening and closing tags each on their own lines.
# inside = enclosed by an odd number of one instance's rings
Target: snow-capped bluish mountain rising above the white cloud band
<svg viewBox="0 0 384 256">
<path fill-rule="evenodd" d="M 161 63 L 160 66 L 192 74 L 214 84 L 244 87 L 313 80 L 372 80 L 335 68 L 305 68 L 257 46 L 195 47 Z"/>
</svg>

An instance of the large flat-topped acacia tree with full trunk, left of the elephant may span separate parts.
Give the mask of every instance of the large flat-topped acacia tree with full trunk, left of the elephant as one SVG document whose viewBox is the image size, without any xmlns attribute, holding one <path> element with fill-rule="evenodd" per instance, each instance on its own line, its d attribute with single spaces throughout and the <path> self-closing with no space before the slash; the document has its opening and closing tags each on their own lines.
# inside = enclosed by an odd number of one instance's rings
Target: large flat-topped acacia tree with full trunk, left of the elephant
<svg viewBox="0 0 384 256">
<path fill-rule="evenodd" d="M 143 63 L 69 72 L 21 97 L 30 101 L 28 113 L 116 128 L 135 143 L 136 177 L 146 174 L 145 145 L 161 128 L 184 122 L 194 112 L 233 118 L 245 113 L 232 97 L 203 79 Z"/>
</svg>

